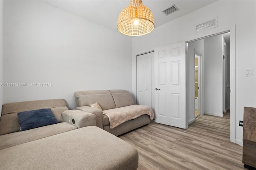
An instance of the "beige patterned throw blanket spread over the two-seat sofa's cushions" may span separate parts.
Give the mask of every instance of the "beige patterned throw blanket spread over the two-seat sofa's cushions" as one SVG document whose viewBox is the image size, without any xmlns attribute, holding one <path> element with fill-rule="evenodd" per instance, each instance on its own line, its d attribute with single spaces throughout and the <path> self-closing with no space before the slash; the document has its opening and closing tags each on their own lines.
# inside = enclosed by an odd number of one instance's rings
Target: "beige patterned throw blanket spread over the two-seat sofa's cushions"
<svg viewBox="0 0 256 170">
<path fill-rule="evenodd" d="M 111 129 L 124 122 L 140 117 L 141 115 L 149 115 L 151 120 L 154 118 L 152 109 L 148 106 L 142 105 L 131 105 L 116 109 L 109 109 L 103 111 L 103 114 L 108 116 Z"/>
</svg>

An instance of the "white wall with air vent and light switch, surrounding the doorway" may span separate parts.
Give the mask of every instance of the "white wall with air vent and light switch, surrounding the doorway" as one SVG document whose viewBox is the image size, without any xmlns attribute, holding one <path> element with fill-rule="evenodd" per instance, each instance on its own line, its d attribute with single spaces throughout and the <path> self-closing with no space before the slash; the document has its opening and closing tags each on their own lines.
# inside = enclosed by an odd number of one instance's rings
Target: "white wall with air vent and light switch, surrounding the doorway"
<svg viewBox="0 0 256 170">
<path fill-rule="evenodd" d="M 216 16 L 218 16 L 218 27 L 195 33 L 194 28 L 197 24 L 212 20 Z M 243 120 L 243 108 L 256 107 L 256 76 L 244 76 L 246 68 L 256 67 L 256 1 L 219 0 L 155 28 L 148 35 L 132 38 L 133 93 L 136 93 L 136 54 L 230 30 L 234 26 L 236 27 L 236 89 L 234 89 L 236 90 L 236 142 L 242 144 L 243 129 L 238 123 L 239 120 Z"/>
</svg>

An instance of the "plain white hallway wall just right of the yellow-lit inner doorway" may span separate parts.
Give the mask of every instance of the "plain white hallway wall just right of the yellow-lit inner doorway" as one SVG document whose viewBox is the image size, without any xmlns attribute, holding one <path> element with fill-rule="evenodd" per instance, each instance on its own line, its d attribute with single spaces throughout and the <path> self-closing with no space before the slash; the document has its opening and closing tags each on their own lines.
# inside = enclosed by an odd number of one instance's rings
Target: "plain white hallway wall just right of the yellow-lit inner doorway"
<svg viewBox="0 0 256 170">
<path fill-rule="evenodd" d="M 223 116 L 222 35 L 204 39 L 204 113 Z"/>
</svg>

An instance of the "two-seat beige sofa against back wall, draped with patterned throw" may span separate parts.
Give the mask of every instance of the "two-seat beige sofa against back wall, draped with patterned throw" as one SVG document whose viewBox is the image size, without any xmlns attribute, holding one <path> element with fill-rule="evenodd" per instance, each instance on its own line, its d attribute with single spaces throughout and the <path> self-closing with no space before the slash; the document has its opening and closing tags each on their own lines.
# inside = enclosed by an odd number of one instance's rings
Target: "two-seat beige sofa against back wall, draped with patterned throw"
<svg viewBox="0 0 256 170">
<path fill-rule="evenodd" d="M 92 90 L 92 91 L 77 91 L 74 93 L 76 97 L 76 109 L 93 113 L 96 115 L 96 126 L 118 136 L 135 128 L 147 125 L 150 119 L 153 119 L 154 113 L 151 108 L 141 105 L 134 105 L 132 95 L 126 90 Z M 98 103 L 102 110 L 91 107 L 90 105 Z M 144 109 L 148 110 L 144 110 Z M 128 113 L 133 115 L 136 110 L 144 111 L 145 114 L 123 122 L 117 127 L 112 128 L 110 116 L 105 115 L 106 112 L 118 112 L 120 115 Z M 122 116 L 121 116 L 122 117 Z M 119 119 L 119 118 L 118 118 Z M 122 120 L 124 121 L 124 120 Z"/>
</svg>

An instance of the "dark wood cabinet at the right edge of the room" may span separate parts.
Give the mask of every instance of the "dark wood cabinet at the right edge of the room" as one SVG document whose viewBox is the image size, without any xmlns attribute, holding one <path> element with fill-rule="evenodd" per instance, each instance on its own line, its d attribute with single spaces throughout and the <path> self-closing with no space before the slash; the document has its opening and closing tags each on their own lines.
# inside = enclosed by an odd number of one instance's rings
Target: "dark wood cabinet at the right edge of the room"
<svg viewBox="0 0 256 170">
<path fill-rule="evenodd" d="M 244 107 L 243 164 L 256 169 L 256 108 Z"/>
</svg>

